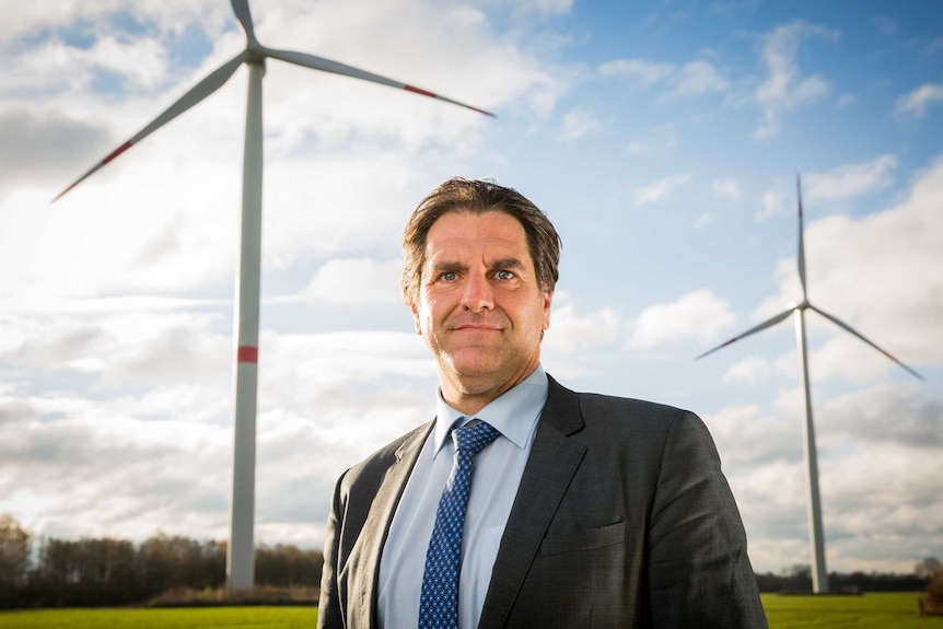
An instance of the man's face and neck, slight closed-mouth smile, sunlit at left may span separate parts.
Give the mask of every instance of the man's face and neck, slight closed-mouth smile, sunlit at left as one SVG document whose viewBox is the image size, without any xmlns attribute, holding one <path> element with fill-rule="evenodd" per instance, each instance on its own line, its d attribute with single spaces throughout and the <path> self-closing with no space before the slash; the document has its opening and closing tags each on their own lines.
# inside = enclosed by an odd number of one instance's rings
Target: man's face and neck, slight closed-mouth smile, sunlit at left
<svg viewBox="0 0 943 629">
<path fill-rule="evenodd" d="M 510 214 L 451 212 L 433 223 L 411 307 L 446 401 L 490 401 L 529 375 L 550 325 L 552 293 L 542 288 L 524 228 Z"/>
</svg>

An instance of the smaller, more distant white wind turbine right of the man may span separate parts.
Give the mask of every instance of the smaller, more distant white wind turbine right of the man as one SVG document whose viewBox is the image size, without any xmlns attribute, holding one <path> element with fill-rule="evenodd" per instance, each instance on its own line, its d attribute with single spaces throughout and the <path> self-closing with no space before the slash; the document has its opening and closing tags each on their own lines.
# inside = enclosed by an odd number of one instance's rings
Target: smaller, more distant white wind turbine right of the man
<svg viewBox="0 0 943 629">
<path fill-rule="evenodd" d="M 733 337 L 726 342 L 719 345 L 718 347 L 706 351 L 705 353 L 697 357 L 697 359 L 702 359 L 709 353 L 713 353 L 717 350 L 724 348 L 735 341 L 744 337 L 748 337 L 752 334 L 756 334 L 760 330 L 764 330 L 768 327 L 772 327 L 778 323 L 784 321 L 789 315 L 793 315 L 795 319 L 795 342 L 799 348 L 799 364 L 802 371 L 802 391 L 805 395 L 805 422 L 802 424 L 802 435 L 803 435 L 803 454 L 805 455 L 805 467 L 807 469 L 807 498 L 808 498 L 808 531 L 810 531 L 810 545 L 812 550 L 812 589 L 816 594 L 828 592 L 828 572 L 825 570 L 825 535 L 823 533 L 822 526 L 822 499 L 818 493 L 818 455 L 815 451 L 815 430 L 812 421 L 812 394 L 810 393 L 810 384 L 808 384 L 808 351 L 805 342 L 805 311 L 812 310 L 840 327 L 841 329 L 851 333 L 857 336 L 901 368 L 907 370 L 908 373 L 916 376 L 919 380 L 923 380 L 919 373 L 894 358 L 887 351 L 881 349 L 866 338 L 853 329 L 848 324 L 839 321 L 837 317 L 815 307 L 811 303 L 808 303 L 808 295 L 806 293 L 806 284 L 805 284 L 805 248 L 803 244 L 803 226 L 802 226 L 802 183 L 800 182 L 799 175 L 795 176 L 795 189 L 796 197 L 799 199 L 799 280 L 802 283 L 802 301 L 800 303 L 791 302 L 787 310 L 779 313 L 778 315 L 762 322 L 761 324 L 749 328 L 745 333 Z"/>
</svg>

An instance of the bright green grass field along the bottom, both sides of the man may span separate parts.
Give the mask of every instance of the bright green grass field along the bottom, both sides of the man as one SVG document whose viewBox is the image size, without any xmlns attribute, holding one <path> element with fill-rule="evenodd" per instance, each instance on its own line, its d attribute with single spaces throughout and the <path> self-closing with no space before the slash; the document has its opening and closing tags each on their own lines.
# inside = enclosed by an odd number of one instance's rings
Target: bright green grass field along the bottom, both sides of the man
<svg viewBox="0 0 943 629">
<path fill-rule="evenodd" d="M 770 629 L 943 629 L 943 617 L 917 616 L 917 594 L 764 594 L 762 605 Z M 316 619 L 315 607 L 0 611 L 3 629 L 301 629 L 314 627 Z"/>
</svg>

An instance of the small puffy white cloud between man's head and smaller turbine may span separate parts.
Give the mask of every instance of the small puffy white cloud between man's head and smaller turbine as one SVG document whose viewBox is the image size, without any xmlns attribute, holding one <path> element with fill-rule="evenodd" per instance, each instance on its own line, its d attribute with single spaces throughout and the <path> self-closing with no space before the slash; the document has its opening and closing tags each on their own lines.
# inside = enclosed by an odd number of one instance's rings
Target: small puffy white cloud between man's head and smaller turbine
<svg viewBox="0 0 943 629">
<path fill-rule="evenodd" d="M 701 289 L 643 310 L 631 323 L 627 347 L 648 350 L 682 339 L 707 342 L 733 323 L 730 304 Z"/>
</svg>

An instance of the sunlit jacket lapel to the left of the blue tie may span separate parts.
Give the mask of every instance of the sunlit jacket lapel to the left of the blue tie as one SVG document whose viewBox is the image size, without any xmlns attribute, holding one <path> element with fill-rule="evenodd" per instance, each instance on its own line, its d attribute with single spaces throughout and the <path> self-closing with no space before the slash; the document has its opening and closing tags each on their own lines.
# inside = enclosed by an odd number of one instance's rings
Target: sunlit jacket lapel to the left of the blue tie
<svg viewBox="0 0 943 629">
<path fill-rule="evenodd" d="M 376 490 L 376 497 L 370 505 L 362 534 L 351 551 L 351 558 L 360 557 L 360 560 L 354 562 L 359 564 L 359 569 L 351 566 L 350 572 L 351 575 L 356 575 L 354 579 L 357 580 L 357 582 L 351 583 L 350 592 L 359 594 L 357 606 L 351 606 L 359 613 L 359 620 L 352 622 L 353 627 L 375 627 L 376 625 L 377 585 L 380 583 L 380 560 L 383 556 L 383 546 L 386 544 L 389 525 L 393 523 L 393 515 L 396 513 L 399 499 L 403 497 L 406 481 L 409 479 L 412 467 L 422 451 L 422 444 L 426 443 L 434 423 L 433 421 L 416 430 L 396 450 L 396 462 L 387 468 Z"/>
</svg>

